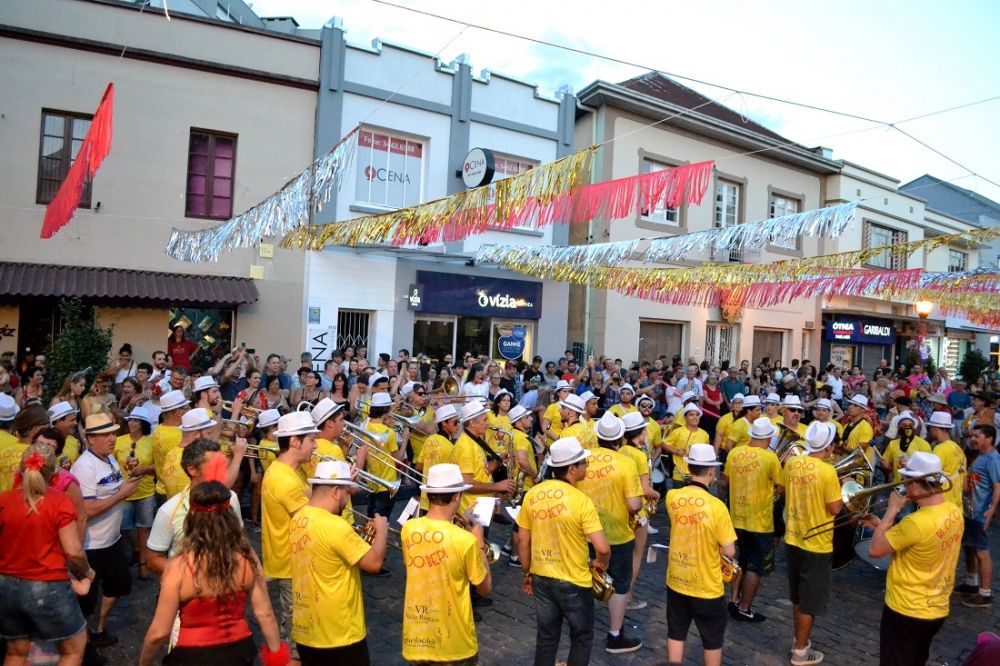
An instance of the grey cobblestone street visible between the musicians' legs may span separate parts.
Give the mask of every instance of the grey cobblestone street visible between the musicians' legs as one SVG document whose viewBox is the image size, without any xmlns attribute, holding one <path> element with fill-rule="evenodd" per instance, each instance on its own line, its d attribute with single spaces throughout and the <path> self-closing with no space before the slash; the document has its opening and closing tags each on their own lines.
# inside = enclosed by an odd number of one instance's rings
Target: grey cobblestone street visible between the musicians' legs
<svg viewBox="0 0 1000 666">
<path fill-rule="evenodd" d="M 398 508 L 397 508 L 398 511 Z M 666 516 L 654 517 L 660 533 L 652 537 L 657 543 L 667 543 Z M 503 544 L 509 534 L 505 526 L 495 525 L 491 541 Z M 993 553 L 1000 555 L 994 530 Z M 254 535 L 255 545 L 259 539 Z M 639 577 L 637 597 L 649 602 L 641 611 L 630 612 L 626 618 L 630 633 L 643 639 L 643 647 L 631 655 L 609 655 L 604 652 L 607 611 L 598 605 L 595 624 L 592 664 L 647 665 L 666 663 L 666 616 L 664 570 L 666 557 L 660 551 L 654 564 L 644 564 Z M 959 567 L 964 565 L 959 562 Z M 388 578 L 363 578 L 365 613 L 368 622 L 368 644 L 372 661 L 378 666 L 404 664 L 400 656 L 402 600 L 404 576 L 399 553 L 389 551 L 386 567 Z M 754 608 L 767 616 L 762 624 L 729 621 L 723 663 L 727 665 L 776 666 L 788 663 L 791 647 L 791 604 L 785 577 L 784 549 L 778 551 L 776 571 L 766 578 Z M 530 664 L 535 645 L 535 618 L 532 602 L 521 594 L 520 569 L 507 566 L 501 560 L 493 567 L 494 604 L 481 608 L 479 630 L 480 663 Z M 818 620 L 813 630 L 813 644 L 826 654 L 824 664 L 857 666 L 878 663 L 878 625 L 882 612 L 885 576 L 861 561 L 855 561 L 833 574 L 829 615 Z M 123 600 L 112 613 L 110 630 L 119 637 L 114 648 L 103 650 L 114 666 L 134 664 L 138 659 L 147 623 L 156 603 L 156 582 L 135 580 L 132 596 Z M 276 602 L 276 599 L 274 599 Z M 985 629 L 996 630 L 1000 625 L 996 606 L 989 610 L 965 608 L 958 595 L 952 596 L 951 616 L 938 633 L 931 649 L 932 666 L 959 666 L 975 646 L 976 634 Z M 565 658 L 568 637 L 564 634 L 560 656 Z M 692 627 L 685 664 L 701 663 L 701 644 Z"/>
</svg>

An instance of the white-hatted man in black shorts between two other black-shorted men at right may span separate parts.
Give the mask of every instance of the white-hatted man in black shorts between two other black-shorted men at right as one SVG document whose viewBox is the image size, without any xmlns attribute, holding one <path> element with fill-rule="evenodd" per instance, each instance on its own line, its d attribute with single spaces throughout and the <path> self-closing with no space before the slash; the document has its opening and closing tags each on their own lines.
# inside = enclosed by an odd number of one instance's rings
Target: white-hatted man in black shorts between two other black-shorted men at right
<svg viewBox="0 0 1000 666">
<path fill-rule="evenodd" d="M 774 571 L 775 487 L 781 487 L 781 463 L 768 447 L 777 428 L 766 417 L 750 427 L 750 444 L 741 444 L 726 457 L 724 476 L 729 486 L 729 507 L 736 539 L 742 579 L 734 578 L 729 614 L 742 622 L 763 622 L 754 611 L 753 600 L 760 579 Z"/>
</svg>

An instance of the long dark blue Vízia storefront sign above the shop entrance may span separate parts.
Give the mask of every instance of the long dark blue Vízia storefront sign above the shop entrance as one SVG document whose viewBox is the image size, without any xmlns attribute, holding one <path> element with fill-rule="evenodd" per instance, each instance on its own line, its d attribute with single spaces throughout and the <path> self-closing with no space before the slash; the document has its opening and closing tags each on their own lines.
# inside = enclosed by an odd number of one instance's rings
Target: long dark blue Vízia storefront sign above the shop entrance
<svg viewBox="0 0 1000 666">
<path fill-rule="evenodd" d="M 417 283 L 408 298 L 410 309 L 417 312 L 517 319 L 542 316 L 542 284 L 527 280 L 417 271 Z"/>
</svg>

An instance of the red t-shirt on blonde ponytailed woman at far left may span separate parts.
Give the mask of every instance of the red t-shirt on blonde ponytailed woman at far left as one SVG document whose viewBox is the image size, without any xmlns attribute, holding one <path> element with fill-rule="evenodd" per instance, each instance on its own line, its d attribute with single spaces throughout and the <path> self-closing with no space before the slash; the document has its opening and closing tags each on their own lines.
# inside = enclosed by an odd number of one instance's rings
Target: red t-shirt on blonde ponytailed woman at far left
<svg viewBox="0 0 1000 666">
<path fill-rule="evenodd" d="M 73 503 L 52 488 L 31 513 L 20 488 L 0 493 L 0 574 L 27 580 L 69 580 L 59 530 L 76 518 Z"/>
</svg>

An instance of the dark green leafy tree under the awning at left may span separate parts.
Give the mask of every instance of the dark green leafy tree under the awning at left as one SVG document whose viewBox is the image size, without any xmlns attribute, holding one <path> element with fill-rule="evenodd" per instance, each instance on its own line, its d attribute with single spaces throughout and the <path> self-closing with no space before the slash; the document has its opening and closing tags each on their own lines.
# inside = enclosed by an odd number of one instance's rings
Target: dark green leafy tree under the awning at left
<svg viewBox="0 0 1000 666">
<path fill-rule="evenodd" d="M 108 364 L 111 353 L 112 329 L 101 328 L 87 316 L 80 299 L 59 303 L 62 330 L 48 351 L 48 376 L 45 403 L 48 404 L 69 375 L 83 371 L 87 386 Z"/>
</svg>

